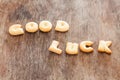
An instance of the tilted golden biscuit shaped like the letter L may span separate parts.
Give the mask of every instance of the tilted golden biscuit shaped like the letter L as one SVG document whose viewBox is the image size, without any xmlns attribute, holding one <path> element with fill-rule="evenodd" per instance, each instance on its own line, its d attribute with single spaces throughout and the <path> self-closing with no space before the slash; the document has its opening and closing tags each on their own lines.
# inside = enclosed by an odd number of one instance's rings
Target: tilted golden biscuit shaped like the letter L
<svg viewBox="0 0 120 80">
<path fill-rule="evenodd" d="M 54 53 L 57 53 L 57 54 L 61 54 L 62 53 L 62 50 L 57 48 L 57 46 L 59 45 L 59 42 L 58 41 L 55 41 L 53 40 L 52 44 L 50 45 L 49 47 L 49 51 L 51 52 L 54 52 Z"/>
</svg>

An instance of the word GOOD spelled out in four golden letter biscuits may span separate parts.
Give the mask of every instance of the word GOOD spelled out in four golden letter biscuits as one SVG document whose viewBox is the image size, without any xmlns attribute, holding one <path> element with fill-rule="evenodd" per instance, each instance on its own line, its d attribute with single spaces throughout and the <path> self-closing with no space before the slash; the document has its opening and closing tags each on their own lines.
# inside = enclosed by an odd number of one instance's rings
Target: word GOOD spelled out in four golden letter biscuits
<svg viewBox="0 0 120 80">
<path fill-rule="evenodd" d="M 37 32 L 39 29 L 42 32 L 49 32 L 52 29 L 52 24 L 49 21 L 41 21 L 39 25 L 35 22 L 28 22 L 25 25 L 25 30 L 30 33 Z M 66 32 L 69 30 L 69 24 L 65 21 L 58 20 L 55 30 L 59 32 Z M 9 33 L 11 35 L 21 35 L 24 34 L 24 32 L 25 31 L 21 24 L 14 24 L 9 28 Z"/>
</svg>

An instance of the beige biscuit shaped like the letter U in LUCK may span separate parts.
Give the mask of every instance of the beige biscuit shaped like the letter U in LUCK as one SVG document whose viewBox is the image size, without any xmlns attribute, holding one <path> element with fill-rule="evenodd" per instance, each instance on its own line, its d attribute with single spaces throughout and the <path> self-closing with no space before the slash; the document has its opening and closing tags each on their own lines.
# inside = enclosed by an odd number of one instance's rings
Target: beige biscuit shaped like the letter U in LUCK
<svg viewBox="0 0 120 80">
<path fill-rule="evenodd" d="M 67 42 L 66 53 L 67 54 L 78 54 L 78 44 L 72 43 L 72 42 Z"/>
</svg>

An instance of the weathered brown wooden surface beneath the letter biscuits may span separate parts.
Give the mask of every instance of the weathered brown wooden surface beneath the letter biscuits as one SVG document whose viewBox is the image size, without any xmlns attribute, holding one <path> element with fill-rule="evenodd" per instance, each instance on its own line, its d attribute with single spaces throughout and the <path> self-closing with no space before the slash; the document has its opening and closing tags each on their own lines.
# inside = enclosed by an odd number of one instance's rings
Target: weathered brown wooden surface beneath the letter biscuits
<svg viewBox="0 0 120 80">
<path fill-rule="evenodd" d="M 66 33 L 8 34 L 10 25 L 57 20 Z M 60 41 L 62 55 L 48 51 Z M 94 52 L 65 54 L 67 41 L 94 41 Z M 111 40 L 111 55 L 97 52 L 99 40 Z M 120 0 L 0 0 L 0 80 L 120 80 Z"/>
</svg>

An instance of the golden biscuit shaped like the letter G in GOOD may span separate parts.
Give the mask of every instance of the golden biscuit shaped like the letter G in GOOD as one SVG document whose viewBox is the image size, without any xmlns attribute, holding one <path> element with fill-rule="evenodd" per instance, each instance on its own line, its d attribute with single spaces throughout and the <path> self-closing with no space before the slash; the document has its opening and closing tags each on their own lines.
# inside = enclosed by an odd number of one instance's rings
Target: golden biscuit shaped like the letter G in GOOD
<svg viewBox="0 0 120 80">
<path fill-rule="evenodd" d="M 24 30 L 21 24 L 14 24 L 9 27 L 9 33 L 11 35 L 21 35 L 24 34 Z"/>
</svg>

